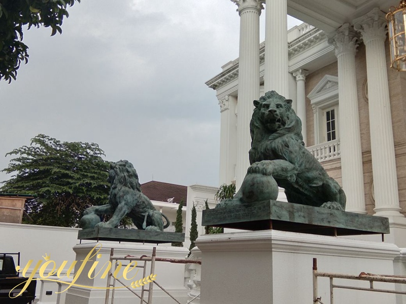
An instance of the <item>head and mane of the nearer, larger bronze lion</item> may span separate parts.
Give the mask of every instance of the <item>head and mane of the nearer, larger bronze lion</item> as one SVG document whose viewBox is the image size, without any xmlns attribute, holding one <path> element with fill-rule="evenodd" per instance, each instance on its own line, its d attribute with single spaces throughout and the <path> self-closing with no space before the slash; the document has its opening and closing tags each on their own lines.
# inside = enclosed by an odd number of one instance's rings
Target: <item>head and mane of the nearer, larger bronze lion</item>
<svg viewBox="0 0 406 304">
<path fill-rule="evenodd" d="M 275 91 L 269 91 L 259 100 L 254 100 L 254 106 L 250 123 L 251 164 L 263 160 L 266 149 L 276 139 L 286 138 L 304 145 L 301 121 L 292 109 L 291 99 L 286 99 Z M 283 146 L 283 141 L 279 141 L 278 145 Z"/>
</svg>

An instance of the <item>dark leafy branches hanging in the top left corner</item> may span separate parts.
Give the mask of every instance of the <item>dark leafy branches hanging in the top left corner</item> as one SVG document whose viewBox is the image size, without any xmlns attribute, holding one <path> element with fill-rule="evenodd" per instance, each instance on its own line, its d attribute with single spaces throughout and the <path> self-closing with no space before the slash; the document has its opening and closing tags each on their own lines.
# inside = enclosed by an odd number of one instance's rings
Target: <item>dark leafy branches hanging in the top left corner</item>
<svg viewBox="0 0 406 304">
<path fill-rule="evenodd" d="M 62 33 L 69 14 L 67 6 L 80 0 L 1 0 L 0 1 L 0 80 L 16 80 L 21 62 L 28 62 L 28 47 L 22 42 L 23 26 L 51 27 L 51 36 Z"/>
</svg>

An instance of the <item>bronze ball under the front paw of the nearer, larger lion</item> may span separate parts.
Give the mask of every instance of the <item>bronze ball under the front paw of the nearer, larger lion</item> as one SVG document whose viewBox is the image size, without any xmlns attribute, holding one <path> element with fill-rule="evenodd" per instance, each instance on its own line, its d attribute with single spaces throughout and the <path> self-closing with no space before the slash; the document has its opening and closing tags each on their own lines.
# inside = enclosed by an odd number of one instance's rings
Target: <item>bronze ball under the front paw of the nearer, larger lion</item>
<svg viewBox="0 0 406 304">
<path fill-rule="evenodd" d="M 267 200 L 276 200 L 279 188 L 276 180 L 270 175 L 249 174 L 241 185 L 244 201 L 254 203 Z"/>
</svg>

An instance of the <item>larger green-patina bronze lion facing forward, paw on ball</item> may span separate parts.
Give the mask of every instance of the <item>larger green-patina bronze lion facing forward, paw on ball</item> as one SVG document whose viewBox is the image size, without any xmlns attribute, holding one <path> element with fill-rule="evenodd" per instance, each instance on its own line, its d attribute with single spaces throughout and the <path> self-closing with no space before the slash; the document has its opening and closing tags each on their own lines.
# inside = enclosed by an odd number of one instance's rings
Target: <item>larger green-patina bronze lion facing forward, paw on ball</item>
<svg viewBox="0 0 406 304">
<path fill-rule="evenodd" d="M 276 200 L 278 185 L 290 203 L 345 210 L 340 185 L 304 147 L 301 122 L 292 100 L 275 91 L 254 101 L 250 123 L 251 166 L 232 200 L 218 206 Z"/>
</svg>

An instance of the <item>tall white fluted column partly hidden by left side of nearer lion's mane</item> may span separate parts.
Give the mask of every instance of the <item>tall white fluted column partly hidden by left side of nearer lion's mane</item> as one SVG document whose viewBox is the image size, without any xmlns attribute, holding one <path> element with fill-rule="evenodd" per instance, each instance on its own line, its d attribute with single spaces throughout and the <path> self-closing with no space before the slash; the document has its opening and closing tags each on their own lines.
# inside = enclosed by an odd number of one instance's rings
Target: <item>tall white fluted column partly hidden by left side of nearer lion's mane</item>
<svg viewBox="0 0 406 304">
<path fill-rule="evenodd" d="M 252 104 L 259 98 L 259 15 L 261 0 L 231 0 L 240 14 L 240 59 L 237 117 L 236 188 L 239 189 L 250 165 L 250 121 Z"/>
</svg>

